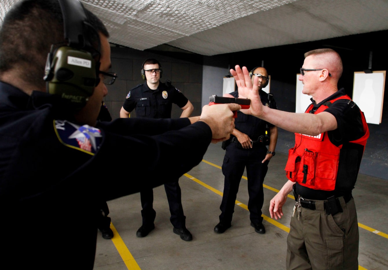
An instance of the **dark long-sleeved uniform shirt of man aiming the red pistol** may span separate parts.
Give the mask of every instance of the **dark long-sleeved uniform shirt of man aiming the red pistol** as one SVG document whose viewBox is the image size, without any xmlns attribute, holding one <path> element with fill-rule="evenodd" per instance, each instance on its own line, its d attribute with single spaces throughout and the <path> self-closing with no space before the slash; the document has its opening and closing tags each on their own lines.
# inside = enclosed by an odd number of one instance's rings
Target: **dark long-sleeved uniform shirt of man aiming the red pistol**
<svg viewBox="0 0 388 270">
<path fill-rule="evenodd" d="M 93 269 L 99 201 L 178 179 L 201 162 L 211 141 L 210 127 L 201 121 L 190 125 L 188 118 L 119 118 L 99 123 L 100 130 L 71 122 L 68 104 L 58 95 L 34 91 L 29 96 L 0 82 L 0 230 L 9 232 L 0 247 L 4 258 L 17 261 L 23 242 L 28 252 L 19 268 L 71 269 L 77 263 L 79 269 Z M 70 130 L 70 136 L 61 136 Z M 87 134 L 100 143 L 85 148 Z M 69 145 L 67 139 L 78 143 Z M 139 157 L 125 179 L 112 177 L 128 166 L 119 151 Z M 182 159 L 182 151 L 191 154 Z M 139 181 L 144 175 L 147 181 Z M 74 244 L 71 228 L 77 225 L 82 237 Z M 35 241 L 37 232 L 45 237 Z"/>
</svg>

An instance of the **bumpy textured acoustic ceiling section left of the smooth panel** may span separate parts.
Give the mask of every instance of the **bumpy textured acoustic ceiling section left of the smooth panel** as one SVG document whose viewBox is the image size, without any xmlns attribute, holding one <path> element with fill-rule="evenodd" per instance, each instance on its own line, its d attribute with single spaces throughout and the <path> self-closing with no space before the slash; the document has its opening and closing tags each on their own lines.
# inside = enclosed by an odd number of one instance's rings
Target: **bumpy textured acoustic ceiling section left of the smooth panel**
<svg viewBox="0 0 388 270">
<path fill-rule="evenodd" d="M 139 50 L 296 0 L 83 0 L 109 25 L 110 41 Z M 117 24 L 120 24 L 119 27 Z"/>
</svg>

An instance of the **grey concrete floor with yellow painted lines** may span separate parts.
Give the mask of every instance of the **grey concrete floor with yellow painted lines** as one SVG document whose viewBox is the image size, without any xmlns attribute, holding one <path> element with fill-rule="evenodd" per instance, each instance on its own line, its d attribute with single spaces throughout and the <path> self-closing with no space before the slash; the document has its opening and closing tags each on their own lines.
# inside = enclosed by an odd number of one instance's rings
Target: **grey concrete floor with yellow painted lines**
<svg viewBox="0 0 388 270">
<path fill-rule="evenodd" d="M 221 145 L 212 144 L 204 160 L 221 166 L 223 155 Z M 272 158 L 265 185 L 274 189 L 282 187 L 286 181 L 286 159 L 287 156 L 279 152 Z M 186 176 L 179 180 L 186 227 L 193 234 L 193 241 L 182 241 L 179 235 L 172 232 L 163 187 L 154 189 L 156 228 L 144 238 L 136 237 L 136 231 L 142 223 L 140 195 L 122 197 L 108 202 L 111 212 L 109 216 L 118 234 L 113 240 L 102 239 L 99 234 L 95 270 L 285 268 L 288 235 L 286 227 L 289 227 L 294 205 L 292 199 L 288 199 L 283 207 L 285 215 L 278 220 L 279 223 L 270 223 L 272 220 L 268 218 L 268 207 L 275 192 L 265 188 L 262 210 L 266 233 L 257 234 L 250 226 L 248 210 L 243 208 L 248 203 L 248 191 L 247 181 L 242 179 L 237 195 L 237 201 L 242 203 L 242 207 L 236 205 L 232 227 L 223 234 L 216 234 L 213 228 L 220 215 L 222 171 L 201 162 L 188 174 L 208 185 L 205 187 Z M 388 269 L 388 181 L 360 174 L 353 197 L 361 226 L 359 269 Z M 121 247 L 118 244 L 120 237 L 125 244 Z M 114 243 L 118 246 L 117 249 Z M 124 260 L 118 250 L 123 254 Z"/>
</svg>

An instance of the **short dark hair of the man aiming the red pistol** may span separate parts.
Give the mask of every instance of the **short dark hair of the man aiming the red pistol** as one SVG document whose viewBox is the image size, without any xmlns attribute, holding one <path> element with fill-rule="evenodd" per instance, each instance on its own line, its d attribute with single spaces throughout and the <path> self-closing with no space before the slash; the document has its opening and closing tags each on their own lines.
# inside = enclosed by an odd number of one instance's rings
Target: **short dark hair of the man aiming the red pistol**
<svg viewBox="0 0 388 270">
<path fill-rule="evenodd" d="M 88 22 L 106 37 L 102 21 L 85 9 Z M 88 31 L 88 40 L 98 49 L 99 36 Z M 90 33 L 90 34 L 89 34 Z M 43 75 L 52 44 L 66 44 L 61 7 L 58 0 L 23 0 L 4 17 L 0 30 L 0 72 L 14 67 L 23 70 L 23 79 L 44 88 Z"/>
</svg>

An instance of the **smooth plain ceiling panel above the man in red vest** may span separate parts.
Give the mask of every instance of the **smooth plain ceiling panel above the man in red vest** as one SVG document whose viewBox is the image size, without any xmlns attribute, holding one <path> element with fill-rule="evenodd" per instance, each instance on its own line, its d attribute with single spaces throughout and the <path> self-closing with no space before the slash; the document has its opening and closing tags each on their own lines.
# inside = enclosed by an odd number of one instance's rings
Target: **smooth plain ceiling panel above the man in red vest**
<svg viewBox="0 0 388 270">
<path fill-rule="evenodd" d="M 224 54 L 388 29 L 388 1 L 300 0 L 169 42 Z"/>
</svg>

